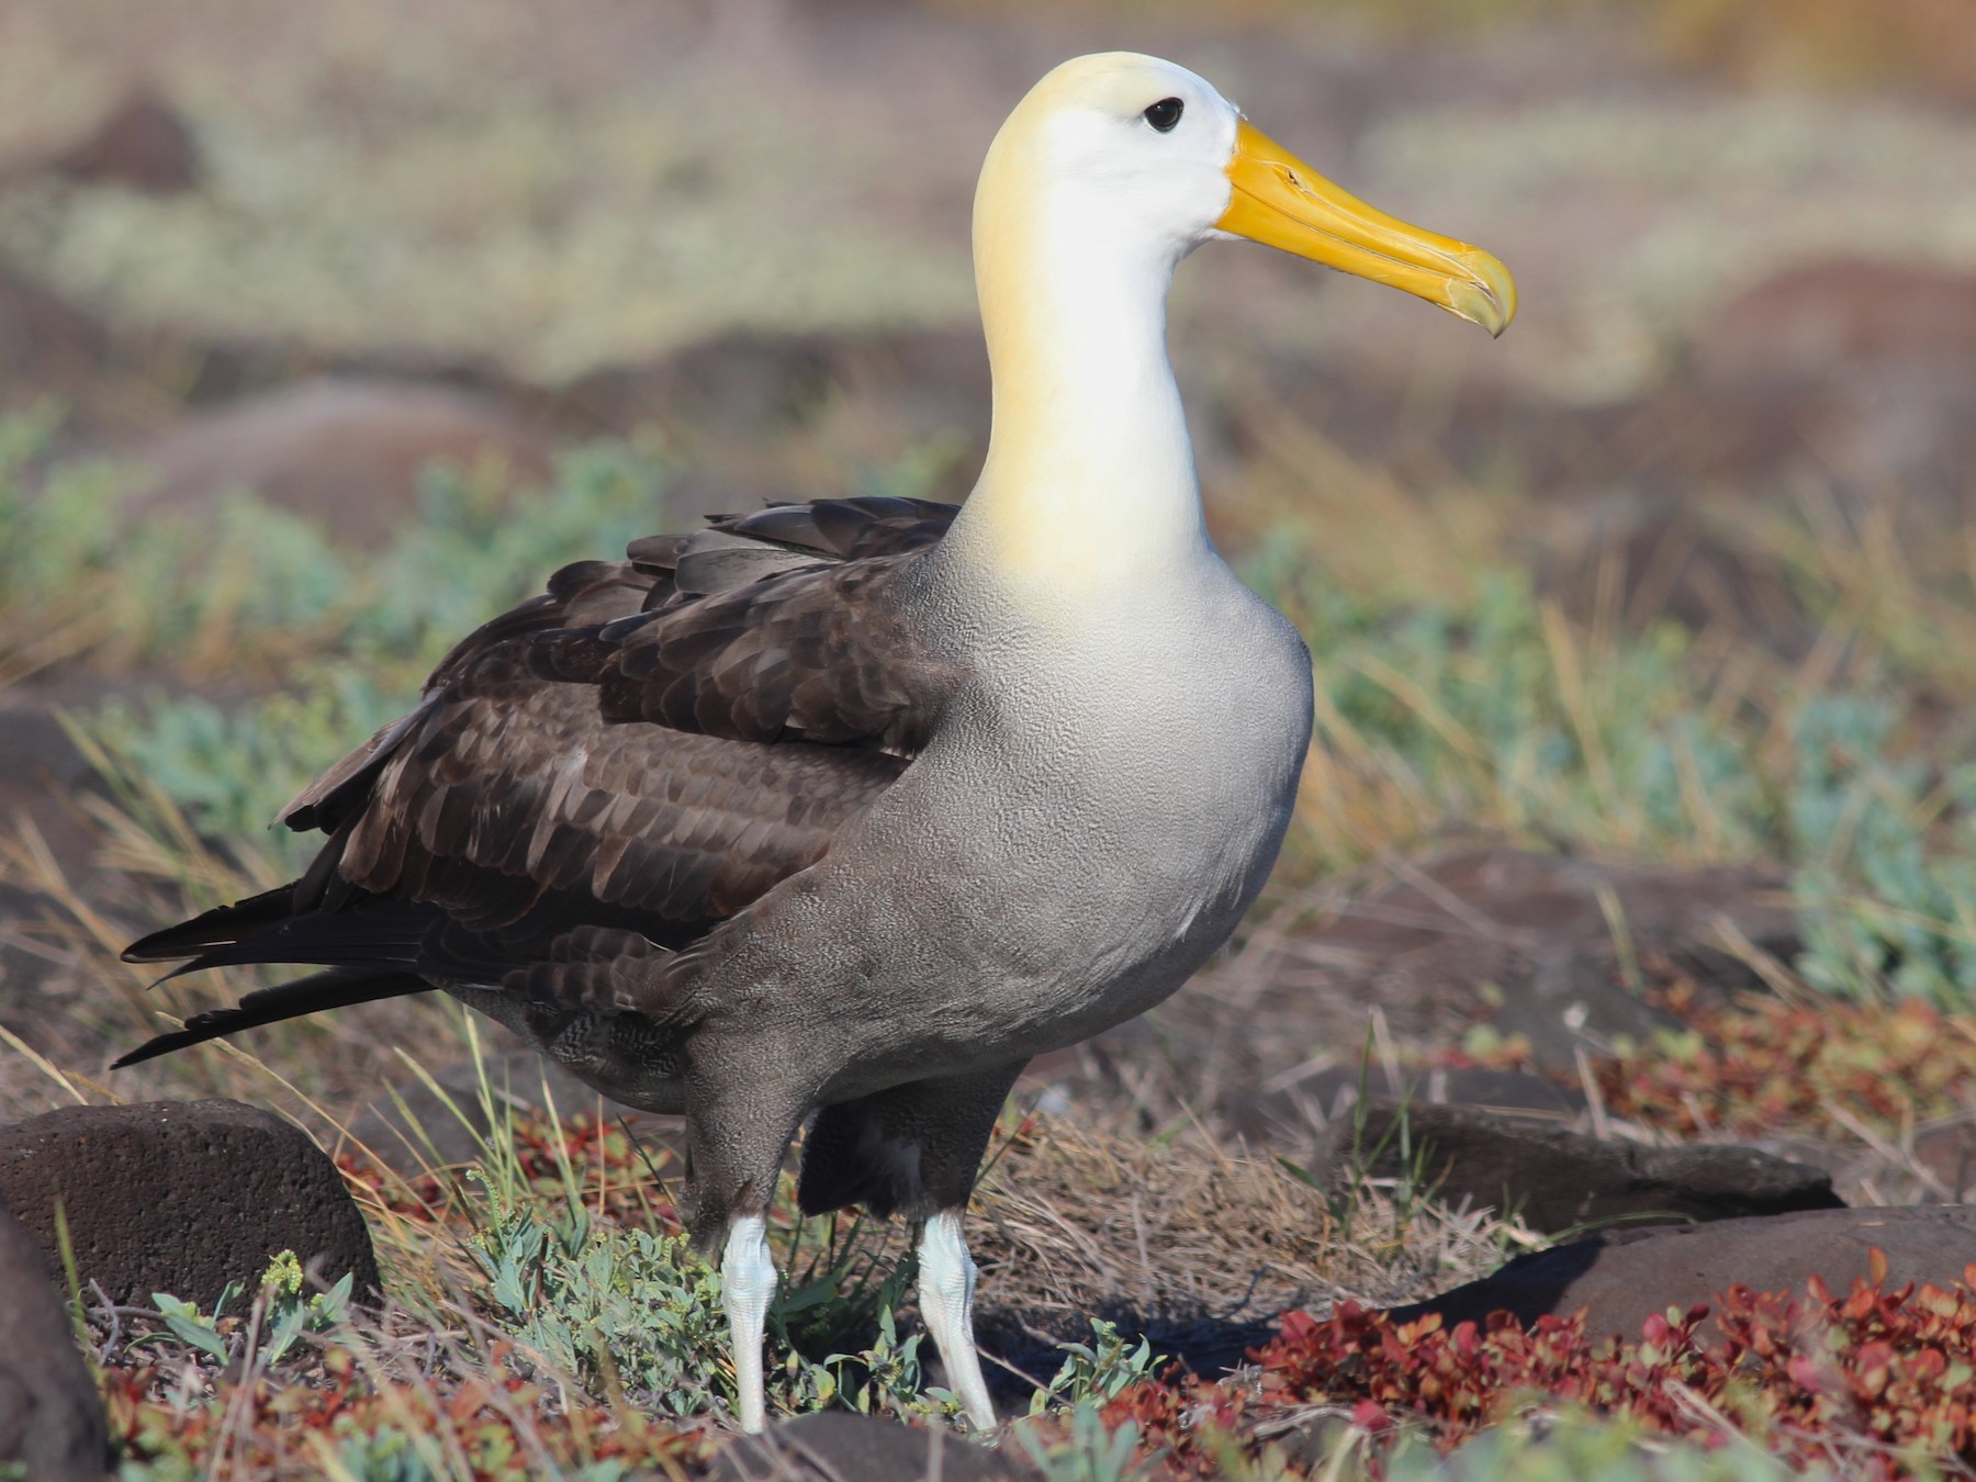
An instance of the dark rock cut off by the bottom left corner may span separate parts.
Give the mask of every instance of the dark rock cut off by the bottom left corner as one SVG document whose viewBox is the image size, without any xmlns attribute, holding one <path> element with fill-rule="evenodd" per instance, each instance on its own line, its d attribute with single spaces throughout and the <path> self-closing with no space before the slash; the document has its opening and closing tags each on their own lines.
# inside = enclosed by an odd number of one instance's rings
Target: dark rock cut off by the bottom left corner
<svg viewBox="0 0 1976 1482">
<path fill-rule="evenodd" d="M 97 1482 L 109 1425 L 36 1241 L 0 1199 L 0 1464 L 36 1482 Z"/>
</svg>

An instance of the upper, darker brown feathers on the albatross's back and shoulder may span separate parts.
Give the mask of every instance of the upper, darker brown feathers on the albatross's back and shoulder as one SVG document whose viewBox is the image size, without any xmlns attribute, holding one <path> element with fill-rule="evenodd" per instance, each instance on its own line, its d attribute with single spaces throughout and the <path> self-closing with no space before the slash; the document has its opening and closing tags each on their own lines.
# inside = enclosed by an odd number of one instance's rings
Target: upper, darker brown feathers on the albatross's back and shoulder
<svg viewBox="0 0 1976 1482">
<path fill-rule="evenodd" d="M 950 676 L 901 628 L 891 599 L 907 557 L 954 514 L 901 498 L 775 504 L 696 535 L 632 541 L 628 561 L 563 567 L 541 597 L 456 644 L 419 709 L 310 782 L 281 822 L 336 832 L 449 688 L 472 686 L 482 666 L 482 684 L 512 682 L 516 662 L 593 686 L 607 721 L 909 757 Z"/>
</svg>

